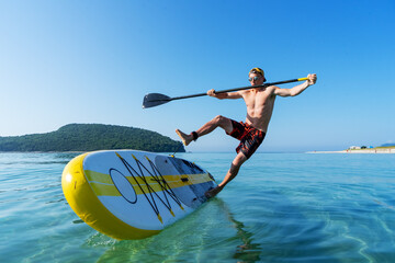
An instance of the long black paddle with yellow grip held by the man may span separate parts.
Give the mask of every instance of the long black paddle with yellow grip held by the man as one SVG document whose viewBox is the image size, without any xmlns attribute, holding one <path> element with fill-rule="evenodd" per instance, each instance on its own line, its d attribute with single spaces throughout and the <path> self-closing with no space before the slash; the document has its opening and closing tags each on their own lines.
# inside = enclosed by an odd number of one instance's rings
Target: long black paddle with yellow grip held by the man
<svg viewBox="0 0 395 263">
<path fill-rule="evenodd" d="M 272 82 L 272 83 L 264 83 L 261 85 L 248 85 L 248 87 L 235 88 L 235 89 L 229 89 L 229 90 L 216 91 L 215 93 L 225 93 L 225 92 L 232 92 L 232 91 L 238 91 L 238 90 L 264 88 L 264 87 L 269 87 L 269 85 L 285 84 L 285 83 L 304 81 L 304 80 L 308 80 L 308 78 L 284 80 L 284 81 L 278 81 L 278 82 Z M 170 96 L 167 96 L 167 95 L 163 95 L 160 93 L 149 93 L 144 96 L 143 108 L 158 106 L 158 105 L 168 103 L 170 101 L 195 98 L 195 96 L 204 96 L 204 95 L 207 95 L 207 93 L 198 93 L 198 94 L 192 94 L 192 95 L 174 96 L 174 98 L 170 98 Z"/>
</svg>

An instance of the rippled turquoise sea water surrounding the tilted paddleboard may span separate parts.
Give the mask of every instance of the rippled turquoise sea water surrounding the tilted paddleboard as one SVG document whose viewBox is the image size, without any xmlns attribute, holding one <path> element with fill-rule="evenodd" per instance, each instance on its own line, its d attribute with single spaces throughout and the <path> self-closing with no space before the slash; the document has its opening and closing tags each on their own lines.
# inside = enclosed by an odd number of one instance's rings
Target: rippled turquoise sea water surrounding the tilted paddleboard
<svg viewBox="0 0 395 263">
<path fill-rule="evenodd" d="M 0 262 L 395 262 L 395 155 L 256 153 L 161 233 L 116 241 L 67 205 L 72 153 L 0 153 Z M 222 180 L 234 153 L 180 153 Z"/>
</svg>

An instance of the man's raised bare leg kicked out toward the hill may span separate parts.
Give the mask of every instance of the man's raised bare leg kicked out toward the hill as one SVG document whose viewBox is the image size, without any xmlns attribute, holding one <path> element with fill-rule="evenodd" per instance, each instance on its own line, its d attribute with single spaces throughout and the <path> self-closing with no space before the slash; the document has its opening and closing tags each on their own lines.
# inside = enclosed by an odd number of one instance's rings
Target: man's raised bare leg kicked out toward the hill
<svg viewBox="0 0 395 263">
<path fill-rule="evenodd" d="M 230 134 L 232 130 L 233 130 L 232 121 L 229 118 L 227 118 L 227 117 L 218 115 L 215 118 L 213 118 L 212 121 L 210 121 L 208 123 L 204 124 L 195 133 L 198 134 L 198 137 L 201 137 L 201 136 L 204 136 L 206 134 L 210 134 L 211 132 L 213 132 L 217 127 L 223 128 L 228 134 Z M 185 146 L 188 146 L 193 140 L 193 135 L 192 134 L 190 134 L 190 135 L 184 134 L 180 129 L 176 129 L 176 133 L 178 134 L 178 136 L 180 136 L 182 142 Z"/>
</svg>

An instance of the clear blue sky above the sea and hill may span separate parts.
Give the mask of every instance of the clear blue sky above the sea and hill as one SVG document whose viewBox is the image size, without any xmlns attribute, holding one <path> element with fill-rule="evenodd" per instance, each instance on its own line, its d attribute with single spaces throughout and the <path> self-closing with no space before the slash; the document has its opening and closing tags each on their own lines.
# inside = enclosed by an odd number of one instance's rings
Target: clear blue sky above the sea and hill
<svg viewBox="0 0 395 263">
<path fill-rule="evenodd" d="M 169 96 L 315 72 L 316 85 L 278 98 L 260 151 L 395 142 L 395 1 L 0 1 L 0 136 L 69 123 L 198 129 L 242 121 L 242 100 Z M 290 88 L 292 85 L 283 85 Z M 222 130 L 191 151 L 234 150 Z"/>
</svg>

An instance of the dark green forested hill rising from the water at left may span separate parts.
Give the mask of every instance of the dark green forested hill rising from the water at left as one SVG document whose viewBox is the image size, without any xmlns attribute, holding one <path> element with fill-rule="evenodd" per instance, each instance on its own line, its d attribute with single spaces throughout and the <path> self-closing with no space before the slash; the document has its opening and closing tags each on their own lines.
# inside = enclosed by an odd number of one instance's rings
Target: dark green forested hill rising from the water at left
<svg viewBox="0 0 395 263">
<path fill-rule="evenodd" d="M 92 151 L 134 149 L 184 152 L 181 142 L 158 133 L 103 124 L 68 124 L 56 132 L 0 137 L 0 151 Z"/>
</svg>

